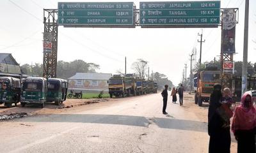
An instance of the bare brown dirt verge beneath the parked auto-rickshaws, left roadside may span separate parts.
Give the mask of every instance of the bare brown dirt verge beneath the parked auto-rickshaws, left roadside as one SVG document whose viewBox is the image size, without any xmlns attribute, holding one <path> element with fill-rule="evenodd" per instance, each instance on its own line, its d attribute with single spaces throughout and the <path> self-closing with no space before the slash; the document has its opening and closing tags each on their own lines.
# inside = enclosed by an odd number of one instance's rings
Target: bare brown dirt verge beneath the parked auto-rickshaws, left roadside
<svg viewBox="0 0 256 153">
<path fill-rule="evenodd" d="M 67 110 L 68 108 L 73 108 L 82 105 L 91 105 L 94 103 L 103 103 L 113 101 L 110 98 L 104 99 L 67 99 L 60 106 L 55 105 L 54 103 L 46 104 L 44 108 L 40 108 L 40 105 L 29 104 L 25 107 L 21 107 L 20 104 L 17 107 L 8 108 L 4 105 L 0 105 L 0 121 L 17 119 L 21 117 L 31 116 L 31 115 L 40 115 L 45 113 L 58 113 Z"/>
</svg>

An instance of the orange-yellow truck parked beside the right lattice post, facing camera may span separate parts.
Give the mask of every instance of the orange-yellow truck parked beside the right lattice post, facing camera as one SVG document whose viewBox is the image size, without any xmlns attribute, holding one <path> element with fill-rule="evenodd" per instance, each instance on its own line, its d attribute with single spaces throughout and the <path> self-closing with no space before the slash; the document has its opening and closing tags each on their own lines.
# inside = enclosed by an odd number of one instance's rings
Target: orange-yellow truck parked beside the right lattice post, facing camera
<svg viewBox="0 0 256 153">
<path fill-rule="evenodd" d="M 200 71 L 196 78 L 195 104 L 202 106 L 203 102 L 209 102 L 214 84 L 220 84 L 220 71 Z"/>
</svg>

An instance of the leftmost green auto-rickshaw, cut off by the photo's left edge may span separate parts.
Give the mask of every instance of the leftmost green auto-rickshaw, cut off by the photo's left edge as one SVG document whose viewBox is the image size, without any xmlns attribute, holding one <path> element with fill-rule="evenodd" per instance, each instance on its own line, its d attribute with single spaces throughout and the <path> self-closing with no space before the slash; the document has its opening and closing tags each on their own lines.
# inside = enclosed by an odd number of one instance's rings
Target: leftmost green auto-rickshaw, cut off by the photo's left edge
<svg viewBox="0 0 256 153">
<path fill-rule="evenodd" d="M 0 77 L 0 104 L 4 106 L 17 106 L 20 101 L 20 79 L 13 77 Z"/>
</svg>

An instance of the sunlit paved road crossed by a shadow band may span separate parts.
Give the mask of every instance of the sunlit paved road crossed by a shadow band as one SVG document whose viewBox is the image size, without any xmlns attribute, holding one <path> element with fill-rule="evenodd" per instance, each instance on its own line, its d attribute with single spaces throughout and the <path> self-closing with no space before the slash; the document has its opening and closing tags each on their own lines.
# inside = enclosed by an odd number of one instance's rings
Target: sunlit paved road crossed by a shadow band
<svg viewBox="0 0 256 153">
<path fill-rule="evenodd" d="M 207 152 L 207 107 L 160 94 L 0 122 L 0 152 Z"/>
</svg>

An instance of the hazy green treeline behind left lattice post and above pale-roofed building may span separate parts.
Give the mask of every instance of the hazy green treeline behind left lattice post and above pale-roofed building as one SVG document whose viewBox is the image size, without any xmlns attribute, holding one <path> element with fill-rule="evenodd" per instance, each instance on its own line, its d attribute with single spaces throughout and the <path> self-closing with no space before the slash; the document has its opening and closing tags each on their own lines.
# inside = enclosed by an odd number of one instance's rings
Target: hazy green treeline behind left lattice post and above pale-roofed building
<svg viewBox="0 0 256 153">
<path fill-rule="evenodd" d="M 87 63 L 83 60 L 75 60 L 72 62 L 58 61 L 57 62 L 57 77 L 58 78 L 70 78 L 77 72 L 96 72 L 100 66 L 94 63 Z M 43 66 L 42 64 L 35 63 L 33 65 L 23 64 L 20 66 L 22 73 L 26 75 L 42 76 Z"/>
</svg>

